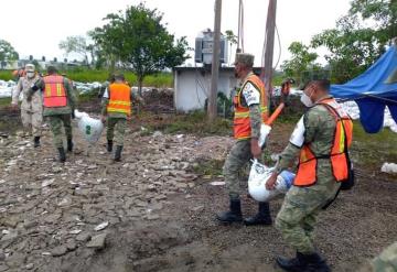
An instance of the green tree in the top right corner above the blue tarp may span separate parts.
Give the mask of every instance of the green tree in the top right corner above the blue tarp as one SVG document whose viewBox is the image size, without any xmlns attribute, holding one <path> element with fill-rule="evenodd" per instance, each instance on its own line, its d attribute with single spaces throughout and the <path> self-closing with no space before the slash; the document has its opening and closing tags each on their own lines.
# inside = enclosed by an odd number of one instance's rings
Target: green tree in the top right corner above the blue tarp
<svg viewBox="0 0 397 272">
<path fill-rule="evenodd" d="M 365 26 L 365 25 L 371 26 Z M 397 36 L 396 0 L 353 0 L 336 28 L 313 36 L 313 47 L 325 46 L 332 79 L 345 83 L 363 73 Z"/>
</svg>

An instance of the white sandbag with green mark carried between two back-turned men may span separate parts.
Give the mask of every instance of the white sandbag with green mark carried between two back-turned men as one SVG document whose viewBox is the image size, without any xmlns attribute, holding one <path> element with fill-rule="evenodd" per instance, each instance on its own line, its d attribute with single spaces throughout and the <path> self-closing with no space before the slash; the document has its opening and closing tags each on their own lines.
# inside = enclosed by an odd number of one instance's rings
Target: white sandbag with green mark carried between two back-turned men
<svg viewBox="0 0 397 272">
<path fill-rule="evenodd" d="M 78 130 L 84 139 L 90 143 L 96 143 L 104 130 L 104 124 L 99 119 L 90 118 L 86 112 L 75 110 L 75 117 L 78 119 Z"/>
</svg>

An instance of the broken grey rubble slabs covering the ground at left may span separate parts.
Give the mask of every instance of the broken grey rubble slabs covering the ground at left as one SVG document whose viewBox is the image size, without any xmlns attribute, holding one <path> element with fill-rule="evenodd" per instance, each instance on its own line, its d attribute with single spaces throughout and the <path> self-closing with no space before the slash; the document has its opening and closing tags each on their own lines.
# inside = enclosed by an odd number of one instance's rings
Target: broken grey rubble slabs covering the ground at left
<svg viewBox="0 0 397 272">
<path fill-rule="evenodd" d="M 75 137 L 65 164 L 55 159 L 49 130 L 39 149 L 21 132 L 0 138 L 0 271 L 40 271 L 78 248 L 106 247 L 115 225 L 160 219 L 170 195 L 195 186 L 195 161 L 224 157 L 232 143 L 160 131 L 127 135 L 121 163 L 112 162 L 103 135 L 89 156 Z"/>
</svg>

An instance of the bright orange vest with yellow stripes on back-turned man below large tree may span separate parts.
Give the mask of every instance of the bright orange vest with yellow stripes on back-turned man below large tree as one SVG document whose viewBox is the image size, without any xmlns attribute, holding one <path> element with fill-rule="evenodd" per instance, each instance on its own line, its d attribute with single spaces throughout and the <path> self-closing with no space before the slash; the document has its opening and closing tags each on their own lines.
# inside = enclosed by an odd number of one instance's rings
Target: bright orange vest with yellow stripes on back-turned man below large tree
<svg viewBox="0 0 397 272">
<path fill-rule="evenodd" d="M 107 111 L 131 115 L 131 88 L 127 84 L 112 83 L 109 85 Z"/>
</svg>

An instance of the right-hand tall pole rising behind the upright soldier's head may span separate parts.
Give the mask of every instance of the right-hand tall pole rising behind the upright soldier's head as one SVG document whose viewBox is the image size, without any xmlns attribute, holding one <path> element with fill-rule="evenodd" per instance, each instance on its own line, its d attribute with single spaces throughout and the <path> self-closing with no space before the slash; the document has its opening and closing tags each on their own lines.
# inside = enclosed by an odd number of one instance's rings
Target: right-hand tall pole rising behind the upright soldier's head
<svg viewBox="0 0 397 272">
<path fill-rule="evenodd" d="M 265 69 L 261 79 L 265 83 L 265 89 L 268 97 L 271 98 L 271 77 L 272 77 L 272 56 L 275 46 L 275 29 L 276 29 L 276 8 L 277 0 L 269 0 L 268 15 L 266 20 L 266 48 L 265 48 Z M 268 109 L 270 110 L 270 99 L 268 99 Z"/>
</svg>

